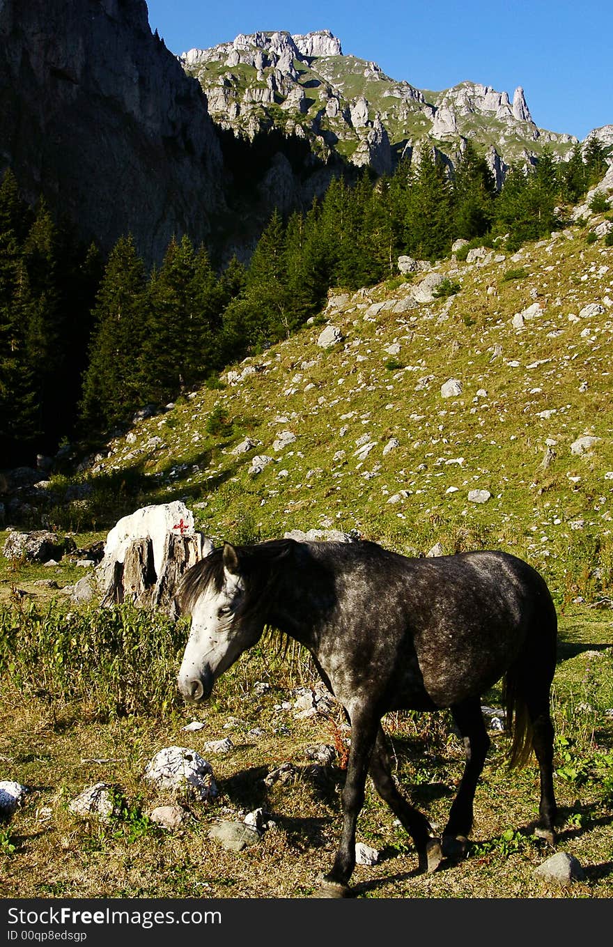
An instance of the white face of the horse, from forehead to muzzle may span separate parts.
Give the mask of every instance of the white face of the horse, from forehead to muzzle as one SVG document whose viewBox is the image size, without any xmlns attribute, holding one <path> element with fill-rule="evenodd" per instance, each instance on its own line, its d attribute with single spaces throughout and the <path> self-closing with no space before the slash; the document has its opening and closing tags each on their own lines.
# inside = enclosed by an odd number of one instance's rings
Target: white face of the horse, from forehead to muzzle
<svg viewBox="0 0 613 947">
<path fill-rule="evenodd" d="M 179 689 L 185 697 L 207 697 L 214 682 L 243 651 L 241 635 L 233 634 L 232 619 L 241 599 L 243 582 L 224 569 L 220 592 L 211 585 L 192 609 L 192 623 L 179 670 Z M 194 690 L 201 682 L 204 693 Z"/>
</svg>

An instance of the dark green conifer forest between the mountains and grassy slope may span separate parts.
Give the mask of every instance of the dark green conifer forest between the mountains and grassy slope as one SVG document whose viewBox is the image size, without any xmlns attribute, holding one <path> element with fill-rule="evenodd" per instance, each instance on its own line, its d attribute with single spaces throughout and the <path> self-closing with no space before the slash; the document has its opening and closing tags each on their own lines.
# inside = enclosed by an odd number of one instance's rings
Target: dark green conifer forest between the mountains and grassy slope
<svg viewBox="0 0 613 947">
<path fill-rule="evenodd" d="M 335 178 L 288 219 L 274 211 L 247 265 L 173 239 L 148 271 L 129 232 L 108 259 L 32 207 L 7 171 L 0 185 L 0 466 L 31 463 L 64 438 L 92 438 L 145 404 L 164 404 L 289 336 L 330 287 L 398 277 L 397 259 L 442 259 L 453 241 L 506 249 L 565 225 L 604 175 L 590 139 L 569 161 L 547 152 L 497 191 L 468 144 L 452 174 L 430 152 L 375 179 Z M 219 383 L 218 383 L 219 384 Z"/>
</svg>

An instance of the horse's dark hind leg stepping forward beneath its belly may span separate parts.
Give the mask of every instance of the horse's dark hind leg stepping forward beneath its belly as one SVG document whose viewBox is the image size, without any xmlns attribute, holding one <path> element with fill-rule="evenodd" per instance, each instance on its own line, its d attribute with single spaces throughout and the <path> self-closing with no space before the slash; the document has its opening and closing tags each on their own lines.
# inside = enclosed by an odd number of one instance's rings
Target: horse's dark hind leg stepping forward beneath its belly
<svg viewBox="0 0 613 947">
<path fill-rule="evenodd" d="M 453 805 L 449 812 L 447 827 L 443 833 L 443 853 L 449 857 L 463 856 L 466 851 L 466 836 L 472 829 L 473 803 L 483 763 L 489 749 L 481 701 L 472 698 L 451 707 L 453 719 L 464 740 L 464 774 Z"/>
</svg>

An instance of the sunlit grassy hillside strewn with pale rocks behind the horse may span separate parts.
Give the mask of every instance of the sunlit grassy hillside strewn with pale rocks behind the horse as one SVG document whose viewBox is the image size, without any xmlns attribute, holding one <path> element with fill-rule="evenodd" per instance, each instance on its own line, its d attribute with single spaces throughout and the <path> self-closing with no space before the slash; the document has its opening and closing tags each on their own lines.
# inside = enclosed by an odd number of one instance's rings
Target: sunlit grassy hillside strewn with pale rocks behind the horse
<svg viewBox="0 0 613 947">
<path fill-rule="evenodd" d="M 613 298 L 613 251 L 575 230 L 500 257 L 441 263 L 460 291 L 403 313 L 411 285 L 397 280 L 338 303 L 333 295 L 324 316 L 342 344 L 319 348 L 316 320 L 234 366 L 256 369 L 242 381 L 194 392 L 112 440 L 92 482 L 136 481 L 142 502 L 183 496 L 216 542 L 336 527 L 404 552 L 437 541 L 446 552 L 502 546 L 542 569 L 558 599 L 608 594 L 613 309 L 603 300 Z M 504 278 L 518 269 L 523 277 Z M 514 313 L 534 301 L 542 314 L 515 329 Z M 603 313 L 569 318 L 594 302 Z M 445 399 L 450 378 L 463 390 Z M 208 433 L 220 409 L 229 435 Z M 283 431 L 296 439 L 275 450 Z M 374 446 L 361 458 L 366 435 Z M 576 456 L 582 435 L 600 439 Z M 246 437 L 256 446 L 234 454 Z M 392 438 L 398 446 L 384 455 Z M 548 438 L 554 456 L 543 469 Z M 256 454 L 272 462 L 252 475 Z M 473 489 L 491 498 L 468 502 Z M 87 515 L 82 501 L 75 515 Z"/>
</svg>

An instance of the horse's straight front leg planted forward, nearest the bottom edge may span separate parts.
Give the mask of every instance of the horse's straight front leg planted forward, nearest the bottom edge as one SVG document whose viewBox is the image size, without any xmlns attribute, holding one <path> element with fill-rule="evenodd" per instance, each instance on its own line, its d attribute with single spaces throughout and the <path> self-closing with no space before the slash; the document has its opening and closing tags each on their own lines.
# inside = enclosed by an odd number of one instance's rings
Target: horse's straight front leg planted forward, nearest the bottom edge
<svg viewBox="0 0 613 947">
<path fill-rule="evenodd" d="M 347 774 L 342 789 L 342 833 L 334 865 L 324 876 L 316 898 L 348 898 L 349 879 L 356 867 L 356 825 L 364 804 L 364 787 L 373 746 L 377 737 L 378 719 L 361 711 L 351 720 L 351 749 Z"/>
</svg>

